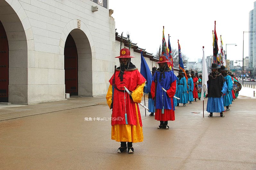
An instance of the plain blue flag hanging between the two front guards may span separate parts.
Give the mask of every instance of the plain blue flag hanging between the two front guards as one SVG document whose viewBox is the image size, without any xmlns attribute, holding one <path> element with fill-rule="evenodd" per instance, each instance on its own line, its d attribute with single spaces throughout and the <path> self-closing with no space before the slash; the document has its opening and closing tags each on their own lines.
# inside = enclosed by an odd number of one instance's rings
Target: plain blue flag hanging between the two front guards
<svg viewBox="0 0 256 170">
<path fill-rule="evenodd" d="M 142 55 L 141 50 L 141 75 L 147 80 L 147 83 L 144 87 L 144 92 L 149 93 L 152 84 L 152 73 L 150 72 L 148 63 L 146 62 L 145 58 Z"/>
</svg>

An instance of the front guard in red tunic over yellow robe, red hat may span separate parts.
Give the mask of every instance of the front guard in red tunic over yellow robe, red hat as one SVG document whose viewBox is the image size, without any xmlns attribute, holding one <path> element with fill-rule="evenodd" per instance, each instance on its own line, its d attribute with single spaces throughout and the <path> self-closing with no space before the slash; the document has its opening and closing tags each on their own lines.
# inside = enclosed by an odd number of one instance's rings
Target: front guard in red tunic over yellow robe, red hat
<svg viewBox="0 0 256 170">
<path fill-rule="evenodd" d="M 107 104 L 112 109 L 111 139 L 121 142 L 118 153 L 124 152 L 127 148 L 128 153 L 133 153 L 132 143 L 143 141 L 138 103 L 141 102 L 146 80 L 131 63 L 133 57 L 130 56 L 129 49 L 121 49 L 120 56 L 115 58 L 119 58 L 120 67 L 115 69 L 109 80 L 106 96 Z M 124 86 L 131 92 L 130 95 L 124 90 Z"/>
</svg>

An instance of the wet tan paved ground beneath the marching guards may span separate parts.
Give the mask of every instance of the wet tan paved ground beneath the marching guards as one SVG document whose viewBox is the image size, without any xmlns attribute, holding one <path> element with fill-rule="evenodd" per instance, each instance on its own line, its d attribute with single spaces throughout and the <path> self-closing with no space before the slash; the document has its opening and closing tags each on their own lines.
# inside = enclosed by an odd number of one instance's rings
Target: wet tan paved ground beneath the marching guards
<svg viewBox="0 0 256 170">
<path fill-rule="evenodd" d="M 179 106 L 168 130 L 140 107 L 144 141 L 133 154 L 110 139 L 105 97 L 0 105 L 0 169 L 256 169 L 255 101 L 236 99 L 224 118 L 203 118 L 202 101 Z"/>
</svg>

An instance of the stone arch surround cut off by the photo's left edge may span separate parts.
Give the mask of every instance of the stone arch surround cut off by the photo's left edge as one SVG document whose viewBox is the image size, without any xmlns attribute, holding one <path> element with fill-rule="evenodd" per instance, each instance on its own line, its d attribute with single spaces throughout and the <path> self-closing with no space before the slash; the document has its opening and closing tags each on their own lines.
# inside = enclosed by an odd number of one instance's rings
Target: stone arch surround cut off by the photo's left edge
<svg viewBox="0 0 256 170">
<path fill-rule="evenodd" d="M 28 53 L 34 51 L 29 19 L 18 0 L 0 0 L 0 20 L 9 46 L 9 102 L 28 103 Z"/>
</svg>

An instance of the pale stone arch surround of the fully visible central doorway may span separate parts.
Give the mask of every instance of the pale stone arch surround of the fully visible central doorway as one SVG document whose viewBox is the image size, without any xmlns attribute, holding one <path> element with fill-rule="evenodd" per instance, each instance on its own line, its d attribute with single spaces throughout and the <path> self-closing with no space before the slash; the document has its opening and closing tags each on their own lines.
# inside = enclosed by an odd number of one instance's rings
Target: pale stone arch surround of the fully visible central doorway
<svg viewBox="0 0 256 170">
<path fill-rule="evenodd" d="M 92 36 L 87 26 L 80 20 L 72 20 L 65 27 L 59 44 L 60 54 L 64 54 L 65 42 L 71 35 L 77 48 L 78 60 L 78 95 L 93 96 L 92 92 L 92 58 L 95 49 Z"/>
</svg>

